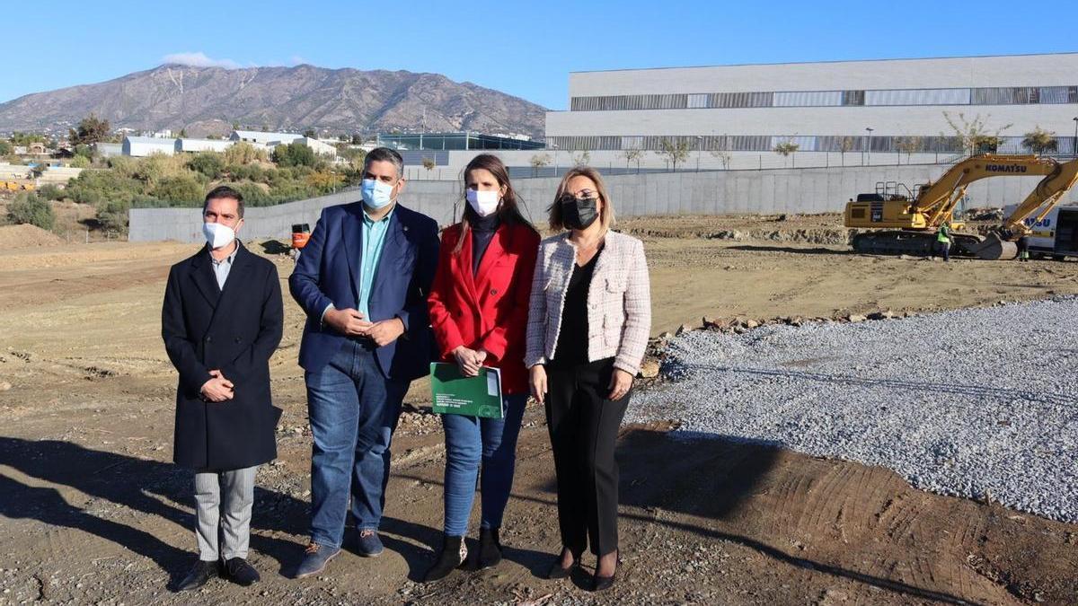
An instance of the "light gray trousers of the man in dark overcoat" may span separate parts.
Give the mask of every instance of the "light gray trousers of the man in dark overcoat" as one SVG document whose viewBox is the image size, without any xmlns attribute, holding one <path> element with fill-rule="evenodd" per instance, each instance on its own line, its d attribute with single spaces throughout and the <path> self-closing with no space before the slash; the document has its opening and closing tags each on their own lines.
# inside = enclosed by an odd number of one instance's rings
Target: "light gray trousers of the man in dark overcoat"
<svg viewBox="0 0 1078 606">
<path fill-rule="evenodd" d="M 198 559 L 247 557 L 251 538 L 251 506 L 254 504 L 254 472 L 258 466 L 231 471 L 195 473 L 195 504 L 198 514 Z M 224 546 L 219 549 L 219 533 Z"/>
</svg>

